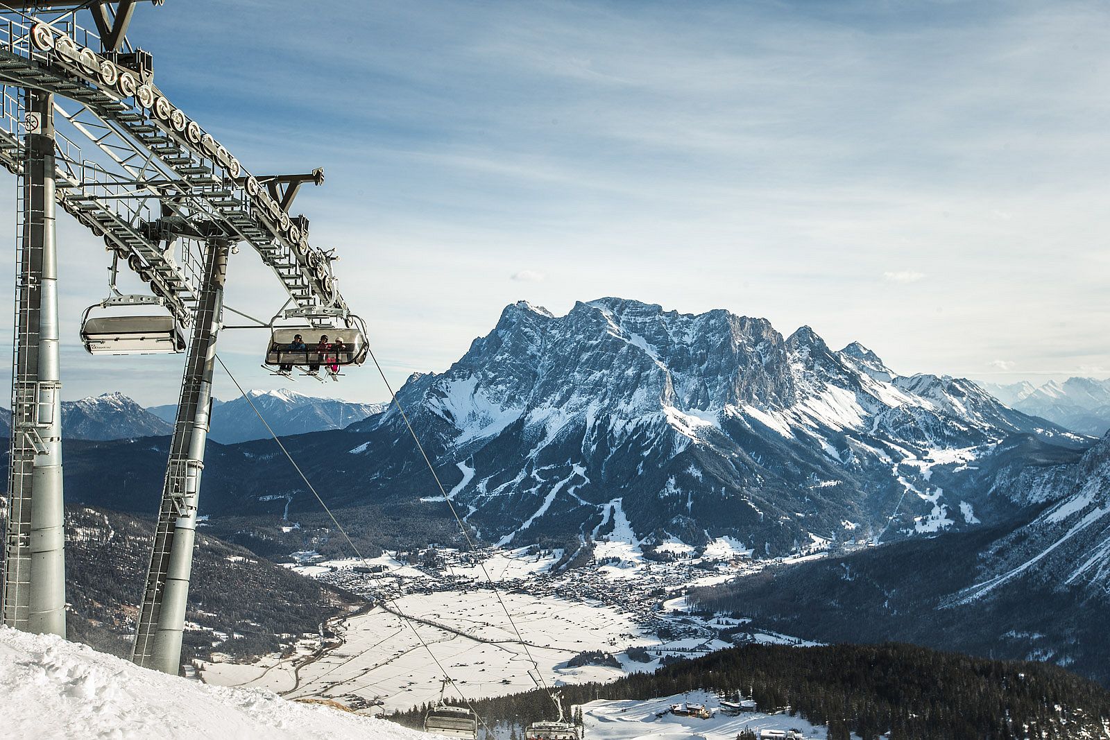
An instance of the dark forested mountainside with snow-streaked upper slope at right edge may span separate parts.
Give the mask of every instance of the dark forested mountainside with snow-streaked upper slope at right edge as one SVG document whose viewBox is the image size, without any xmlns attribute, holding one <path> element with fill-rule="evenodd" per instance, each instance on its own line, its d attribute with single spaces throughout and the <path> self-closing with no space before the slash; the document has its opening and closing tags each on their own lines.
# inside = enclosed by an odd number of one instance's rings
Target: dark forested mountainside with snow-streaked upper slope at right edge
<svg viewBox="0 0 1110 740">
<path fill-rule="evenodd" d="M 693 598 L 766 629 L 828 641 L 912 642 L 1047 660 L 1110 683 L 1110 436 L 1086 453 L 1011 438 L 996 466 L 1010 521 L 834 553 Z"/>
</svg>

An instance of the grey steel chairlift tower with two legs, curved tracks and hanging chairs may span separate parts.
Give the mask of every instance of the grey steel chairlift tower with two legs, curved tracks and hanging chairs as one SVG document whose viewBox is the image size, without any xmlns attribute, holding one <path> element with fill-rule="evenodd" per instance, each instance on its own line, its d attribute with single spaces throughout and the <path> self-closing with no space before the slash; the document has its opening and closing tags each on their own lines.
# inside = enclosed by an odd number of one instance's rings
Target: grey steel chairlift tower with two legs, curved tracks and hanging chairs
<svg viewBox="0 0 1110 740">
<path fill-rule="evenodd" d="M 270 324 L 259 322 L 271 332 L 266 365 L 313 375 L 322 364 L 362 364 L 367 348 L 362 321 L 335 287 L 334 252 L 312 245 L 307 219 L 290 213 L 301 185 L 322 184 L 323 170 L 251 174 L 176 108 L 154 83 L 150 54 L 125 38 L 140 1 L 0 0 L 0 166 L 20 179 L 0 611 L 4 624 L 64 635 L 57 203 L 111 254 L 110 294 L 90 311 L 164 312 L 91 320 L 87 311 L 90 353 L 181 352 L 183 330 L 191 333 L 133 653 L 176 673 L 229 254 L 253 249 L 286 293 Z M 91 16 L 94 30 L 79 16 Z M 121 295 L 119 265 L 151 294 Z M 281 344 L 283 332 L 331 328 L 350 344 Z"/>
</svg>

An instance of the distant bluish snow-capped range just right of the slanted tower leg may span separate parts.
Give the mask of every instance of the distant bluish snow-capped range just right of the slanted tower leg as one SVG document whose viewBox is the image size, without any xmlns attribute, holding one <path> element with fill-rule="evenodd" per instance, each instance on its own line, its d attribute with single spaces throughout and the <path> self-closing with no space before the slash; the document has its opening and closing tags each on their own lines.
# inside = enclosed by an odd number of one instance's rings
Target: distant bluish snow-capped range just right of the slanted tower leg
<svg viewBox="0 0 1110 740">
<path fill-rule="evenodd" d="M 337 398 L 317 398 L 294 391 L 248 391 L 248 395 L 279 435 L 342 429 L 382 410 L 381 404 L 357 404 Z M 176 405 L 154 406 L 152 414 L 171 424 Z M 248 439 L 269 438 L 270 433 L 242 396 L 216 402 L 212 408 L 211 438 L 230 445 Z"/>
</svg>

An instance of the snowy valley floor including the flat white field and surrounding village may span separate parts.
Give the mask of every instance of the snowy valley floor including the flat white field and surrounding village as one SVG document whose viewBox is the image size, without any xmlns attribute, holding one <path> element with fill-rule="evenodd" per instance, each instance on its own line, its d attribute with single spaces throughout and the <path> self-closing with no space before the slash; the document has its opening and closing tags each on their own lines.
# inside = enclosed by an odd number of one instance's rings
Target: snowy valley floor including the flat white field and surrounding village
<svg viewBox="0 0 1110 740">
<path fill-rule="evenodd" d="M 300 566 L 299 570 L 365 594 L 375 601 L 374 608 L 334 620 L 331 631 L 337 639 L 325 642 L 305 636 L 286 655 L 266 656 L 252 665 L 201 662 L 201 677 L 221 686 L 266 688 L 290 698 L 326 698 L 360 710 L 381 706 L 392 711 L 434 701 L 444 672 L 468 699 L 534 688 L 533 660 L 547 683 L 608 681 L 654 671 L 667 657 L 719 650 L 731 645 L 720 639 L 723 630 L 748 629 L 743 620 L 706 620 L 684 611 L 685 586 L 725 576 L 689 559 L 617 562 L 549 576 L 547 568 L 558 551 L 493 550 L 482 560 L 484 571 L 468 556 L 442 550 L 438 556 L 446 562 L 435 568 L 390 557 Z M 385 570 L 360 572 L 356 565 Z M 498 581 L 504 607 L 484 584 L 485 574 Z M 394 597 L 398 591 L 403 596 Z M 513 615 L 515 629 L 505 609 Z M 804 643 L 758 630 L 744 639 Z M 646 656 L 639 657 L 646 662 L 627 655 L 636 647 L 645 649 Z M 609 653 L 618 666 L 567 665 L 589 651 Z"/>
</svg>

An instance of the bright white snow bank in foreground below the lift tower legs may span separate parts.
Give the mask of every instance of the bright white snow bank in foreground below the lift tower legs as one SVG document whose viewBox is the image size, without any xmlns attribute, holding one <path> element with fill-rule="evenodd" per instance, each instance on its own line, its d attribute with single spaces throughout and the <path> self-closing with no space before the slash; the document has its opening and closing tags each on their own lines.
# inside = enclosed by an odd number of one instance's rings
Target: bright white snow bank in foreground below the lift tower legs
<svg viewBox="0 0 1110 740">
<path fill-rule="evenodd" d="M 428 736 L 258 689 L 158 673 L 51 635 L 0 627 L 0 724 L 22 740 L 416 740 Z"/>
</svg>

